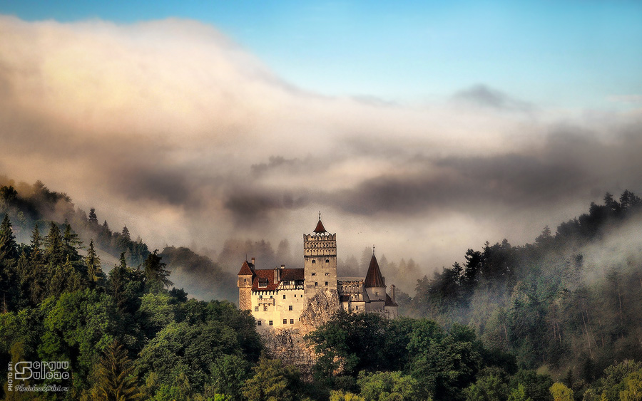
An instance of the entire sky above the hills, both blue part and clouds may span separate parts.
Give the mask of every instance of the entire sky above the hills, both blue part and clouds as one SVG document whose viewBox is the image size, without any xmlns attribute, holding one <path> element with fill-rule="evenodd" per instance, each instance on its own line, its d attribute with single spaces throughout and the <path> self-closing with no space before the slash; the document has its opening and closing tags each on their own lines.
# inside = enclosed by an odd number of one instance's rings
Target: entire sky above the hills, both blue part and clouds
<svg viewBox="0 0 642 401">
<path fill-rule="evenodd" d="M 0 38 L 0 174 L 152 247 L 321 211 L 429 273 L 642 193 L 639 1 L 0 1 Z"/>
</svg>

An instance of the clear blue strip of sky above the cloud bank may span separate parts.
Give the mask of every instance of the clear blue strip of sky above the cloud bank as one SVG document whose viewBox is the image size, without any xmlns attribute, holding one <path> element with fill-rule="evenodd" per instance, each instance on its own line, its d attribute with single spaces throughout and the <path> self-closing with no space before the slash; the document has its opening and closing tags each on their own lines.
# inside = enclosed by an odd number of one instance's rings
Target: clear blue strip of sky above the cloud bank
<svg viewBox="0 0 642 401">
<path fill-rule="evenodd" d="M 642 94 L 640 1 L 0 1 L 26 21 L 195 19 L 283 80 L 417 103 L 483 84 L 544 108 Z"/>
</svg>

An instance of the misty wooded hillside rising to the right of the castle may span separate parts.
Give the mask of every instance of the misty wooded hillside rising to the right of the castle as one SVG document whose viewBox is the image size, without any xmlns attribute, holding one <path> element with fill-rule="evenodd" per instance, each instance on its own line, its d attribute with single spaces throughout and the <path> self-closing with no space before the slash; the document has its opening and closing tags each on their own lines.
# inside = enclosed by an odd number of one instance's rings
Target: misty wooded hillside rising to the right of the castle
<svg viewBox="0 0 642 401">
<path fill-rule="evenodd" d="M 642 202 L 625 191 L 544 227 L 533 244 L 469 249 L 417 281 L 402 310 L 476 328 L 522 368 L 546 365 L 591 382 L 614 360 L 642 358 Z"/>
</svg>

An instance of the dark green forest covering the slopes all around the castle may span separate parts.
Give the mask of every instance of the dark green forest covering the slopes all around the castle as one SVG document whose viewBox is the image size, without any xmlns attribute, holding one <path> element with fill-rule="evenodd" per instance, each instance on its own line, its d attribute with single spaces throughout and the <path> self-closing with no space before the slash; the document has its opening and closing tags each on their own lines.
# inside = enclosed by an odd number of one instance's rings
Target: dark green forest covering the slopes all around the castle
<svg viewBox="0 0 642 401">
<path fill-rule="evenodd" d="M 303 380 L 271 358 L 249 313 L 173 283 L 205 271 L 228 298 L 217 262 L 148 249 L 41 182 L 0 181 L 0 365 L 67 361 L 71 372 L 7 372 L 4 400 L 642 400 L 642 202 L 631 192 L 533 244 L 469 249 L 398 298 L 402 318 L 337 313 L 307 335 L 317 360 Z M 62 390 L 17 391 L 43 384 Z"/>
</svg>

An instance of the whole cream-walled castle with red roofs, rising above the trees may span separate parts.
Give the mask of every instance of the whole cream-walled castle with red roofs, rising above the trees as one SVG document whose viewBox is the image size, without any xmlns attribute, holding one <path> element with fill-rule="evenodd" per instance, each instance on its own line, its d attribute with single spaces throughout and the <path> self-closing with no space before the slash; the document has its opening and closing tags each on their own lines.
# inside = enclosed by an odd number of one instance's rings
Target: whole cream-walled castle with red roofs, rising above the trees
<svg viewBox="0 0 642 401">
<path fill-rule="evenodd" d="M 321 215 L 313 234 L 303 234 L 303 268 L 257 269 L 252 258 L 238 272 L 239 308 L 252 313 L 260 330 L 299 328 L 302 313 L 319 299 L 331 311 L 341 308 L 397 318 L 394 285 L 390 292 L 386 292 L 374 249 L 365 278 L 337 277 L 337 234 L 326 231 Z"/>
</svg>

